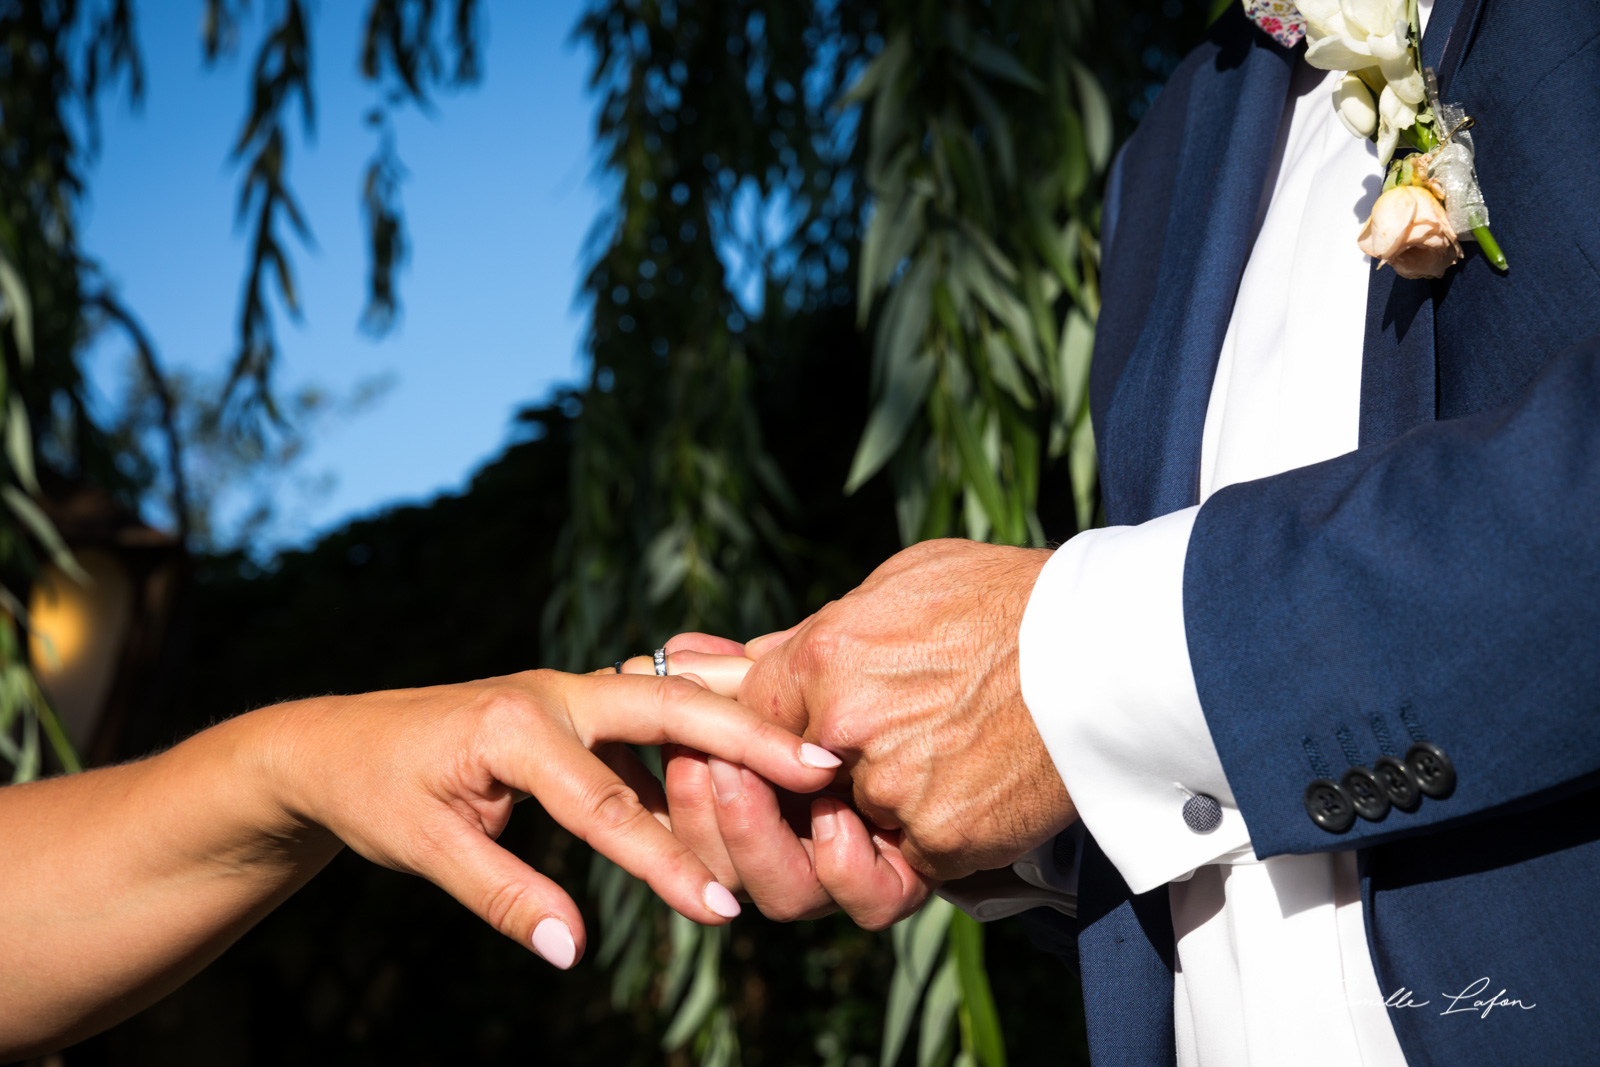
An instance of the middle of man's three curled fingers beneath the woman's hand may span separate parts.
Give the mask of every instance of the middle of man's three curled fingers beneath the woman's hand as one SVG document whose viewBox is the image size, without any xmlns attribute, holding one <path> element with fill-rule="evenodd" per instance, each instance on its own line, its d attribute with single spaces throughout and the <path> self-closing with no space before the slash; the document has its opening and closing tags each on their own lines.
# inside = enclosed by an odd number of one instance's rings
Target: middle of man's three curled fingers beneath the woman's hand
<svg viewBox="0 0 1600 1067">
<path fill-rule="evenodd" d="M 707 760 L 717 797 L 717 830 L 739 883 L 762 913 L 779 921 L 835 910 L 816 880 L 811 854 L 784 821 L 773 787 L 742 766 Z"/>
</svg>

